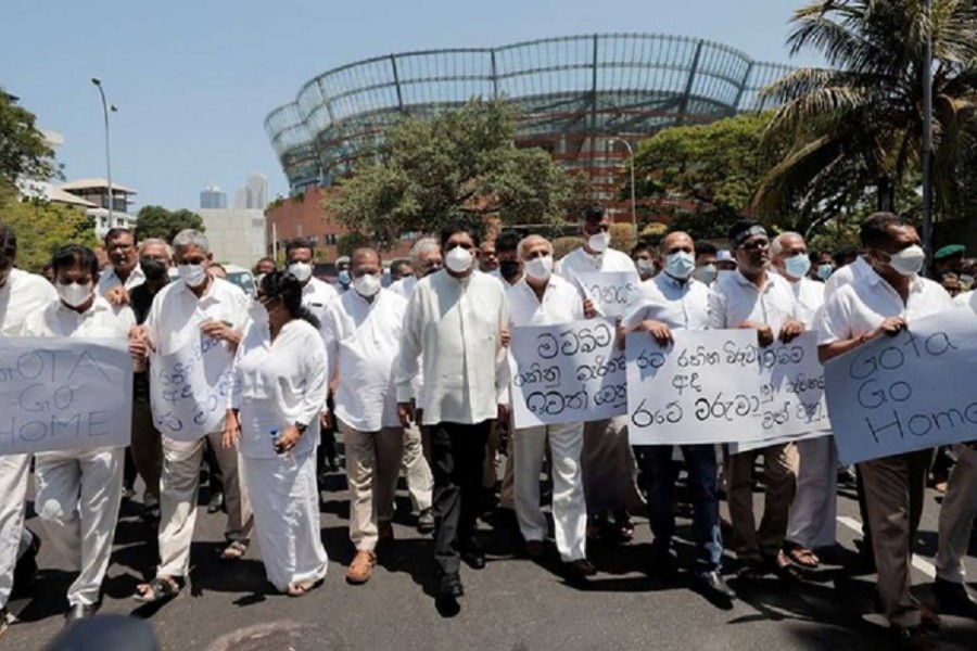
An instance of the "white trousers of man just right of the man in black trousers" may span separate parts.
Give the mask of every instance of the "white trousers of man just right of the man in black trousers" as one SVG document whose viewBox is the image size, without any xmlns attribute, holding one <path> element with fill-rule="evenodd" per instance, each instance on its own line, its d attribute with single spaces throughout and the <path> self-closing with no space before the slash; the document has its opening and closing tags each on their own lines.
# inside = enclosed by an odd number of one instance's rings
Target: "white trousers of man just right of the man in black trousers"
<svg viewBox="0 0 977 651">
<path fill-rule="evenodd" d="M 586 557 L 587 505 L 584 498 L 580 455 L 583 423 L 517 430 L 516 518 L 526 540 L 546 537 L 546 516 L 540 508 L 540 472 L 546 439 L 553 465 L 553 523 L 557 550 L 563 561 Z"/>
</svg>

